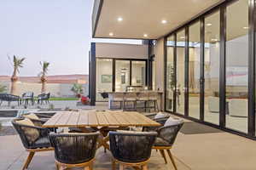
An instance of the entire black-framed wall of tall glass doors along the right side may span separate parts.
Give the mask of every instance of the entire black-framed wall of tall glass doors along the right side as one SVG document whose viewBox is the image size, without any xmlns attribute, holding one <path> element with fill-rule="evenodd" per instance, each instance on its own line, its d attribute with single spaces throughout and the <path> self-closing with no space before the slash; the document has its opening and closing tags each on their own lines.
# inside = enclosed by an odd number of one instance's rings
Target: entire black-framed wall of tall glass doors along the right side
<svg viewBox="0 0 256 170">
<path fill-rule="evenodd" d="M 255 11 L 227 1 L 166 37 L 166 111 L 255 137 Z"/>
</svg>

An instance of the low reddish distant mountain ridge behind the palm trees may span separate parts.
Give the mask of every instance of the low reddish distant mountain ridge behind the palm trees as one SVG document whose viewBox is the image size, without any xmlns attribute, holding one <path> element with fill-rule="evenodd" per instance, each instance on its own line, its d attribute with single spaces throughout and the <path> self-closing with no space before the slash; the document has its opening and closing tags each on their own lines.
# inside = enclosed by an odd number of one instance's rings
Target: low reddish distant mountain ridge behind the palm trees
<svg viewBox="0 0 256 170">
<path fill-rule="evenodd" d="M 9 76 L 0 76 L 0 82 L 9 82 Z M 19 82 L 40 83 L 40 77 L 19 77 Z M 89 75 L 54 75 L 47 77 L 47 83 L 88 83 Z"/>
</svg>

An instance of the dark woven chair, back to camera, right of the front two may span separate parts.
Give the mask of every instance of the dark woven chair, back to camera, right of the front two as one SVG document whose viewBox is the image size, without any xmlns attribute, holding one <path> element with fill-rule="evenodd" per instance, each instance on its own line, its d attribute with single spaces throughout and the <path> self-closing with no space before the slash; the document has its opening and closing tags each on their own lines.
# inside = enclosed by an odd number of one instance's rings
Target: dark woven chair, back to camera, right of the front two
<svg viewBox="0 0 256 170">
<path fill-rule="evenodd" d="M 124 170 L 125 167 L 148 170 L 148 160 L 156 135 L 155 132 L 109 132 L 113 170 L 116 162 L 119 163 L 119 170 Z"/>
</svg>

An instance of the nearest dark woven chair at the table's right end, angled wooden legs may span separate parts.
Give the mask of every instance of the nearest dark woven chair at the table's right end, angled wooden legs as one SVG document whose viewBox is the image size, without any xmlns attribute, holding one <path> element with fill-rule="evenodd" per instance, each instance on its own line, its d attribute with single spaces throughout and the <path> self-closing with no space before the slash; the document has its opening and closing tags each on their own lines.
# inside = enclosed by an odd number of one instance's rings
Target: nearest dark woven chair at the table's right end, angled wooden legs
<svg viewBox="0 0 256 170">
<path fill-rule="evenodd" d="M 159 127 L 156 130 L 156 132 L 158 133 L 158 136 L 155 139 L 154 146 L 153 146 L 153 149 L 160 150 L 160 154 L 164 158 L 166 163 L 167 163 L 167 159 L 166 159 L 165 150 L 167 151 L 168 156 L 172 161 L 172 165 L 176 170 L 177 170 L 177 166 L 173 159 L 171 149 L 177 137 L 177 133 L 181 129 L 181 127 L 183 127 L 183 122 L 178 123 L 177 125 Z"/>
</svg>

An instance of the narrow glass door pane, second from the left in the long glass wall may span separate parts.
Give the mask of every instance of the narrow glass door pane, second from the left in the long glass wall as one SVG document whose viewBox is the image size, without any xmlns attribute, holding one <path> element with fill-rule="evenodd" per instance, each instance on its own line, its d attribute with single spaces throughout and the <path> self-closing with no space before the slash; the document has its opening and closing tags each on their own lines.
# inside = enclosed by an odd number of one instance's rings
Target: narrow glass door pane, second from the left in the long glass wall
<svg viewBox="0 0 256 170">
<path fill-rule="evenodd" d="M 185 99 L 185 31 L 177 32 L 177 88 L 176 88 L 176 111 L 184 115 Z"/>
</svg>

